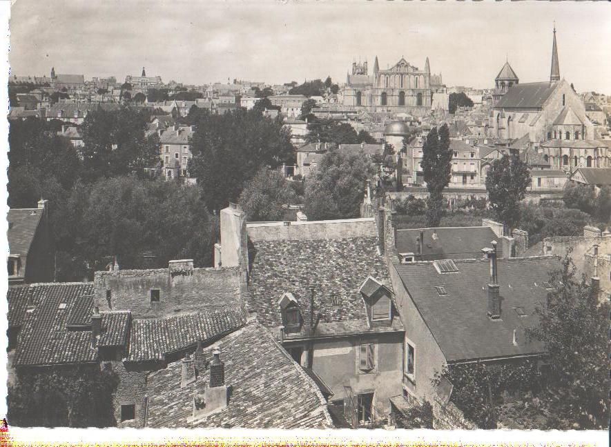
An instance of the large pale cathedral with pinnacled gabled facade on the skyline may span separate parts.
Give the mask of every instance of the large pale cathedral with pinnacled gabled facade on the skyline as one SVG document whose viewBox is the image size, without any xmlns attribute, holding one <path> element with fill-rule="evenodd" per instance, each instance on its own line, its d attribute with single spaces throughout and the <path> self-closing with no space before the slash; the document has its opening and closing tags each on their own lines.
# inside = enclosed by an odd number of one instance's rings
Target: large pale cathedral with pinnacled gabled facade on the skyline
<svg viewBox="0 0 611 447">
<path fill-rule="evenodd" d="M 343 91 L 343 105 L 370 112 L 410 113 L 423 116 L 431 110 L 433 94 L 441 85 L 441 74 L 431 74 L 429 58 L 420 69 L 403 57 L 386 70 L 378 57 L 369 74 L 367 61 L 352 63 Z"/>
</svg>

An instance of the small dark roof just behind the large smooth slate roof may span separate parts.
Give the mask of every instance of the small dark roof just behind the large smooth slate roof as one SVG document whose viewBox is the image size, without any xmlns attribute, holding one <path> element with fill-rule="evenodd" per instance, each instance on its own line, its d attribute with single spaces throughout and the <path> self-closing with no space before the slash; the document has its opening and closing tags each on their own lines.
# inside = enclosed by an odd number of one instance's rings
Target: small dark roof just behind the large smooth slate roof
<svg viewBox="0 0 611 447">
<path fill-rule="evenodd" d="M 481 259 L 482 248 L 490 247 L 491 241 L 498 237 L 488 226 L 481 227 L 441 227 L 397 230 L 395 245 L 398 253 L 418 253 L 417 239 L 424 232 L 422 261 L 435 259 Z M 437 239 L 433 239 L 433 233 Z M 501 252 L 501 246 L 498 246 Z"/>
</svg>

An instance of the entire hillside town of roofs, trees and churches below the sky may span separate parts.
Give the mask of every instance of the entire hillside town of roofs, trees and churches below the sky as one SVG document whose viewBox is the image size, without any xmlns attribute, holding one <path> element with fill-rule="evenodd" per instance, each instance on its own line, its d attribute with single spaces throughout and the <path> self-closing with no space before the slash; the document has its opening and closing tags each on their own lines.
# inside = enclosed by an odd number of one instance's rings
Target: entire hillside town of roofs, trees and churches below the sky
<svg viewBox="0 0 611 447">
<path fill-rule="evenodd" d="M 545 39 L 485 88 L 10 74 L 8 424 L 608 428 L 611 95 Z"/>
</svg>

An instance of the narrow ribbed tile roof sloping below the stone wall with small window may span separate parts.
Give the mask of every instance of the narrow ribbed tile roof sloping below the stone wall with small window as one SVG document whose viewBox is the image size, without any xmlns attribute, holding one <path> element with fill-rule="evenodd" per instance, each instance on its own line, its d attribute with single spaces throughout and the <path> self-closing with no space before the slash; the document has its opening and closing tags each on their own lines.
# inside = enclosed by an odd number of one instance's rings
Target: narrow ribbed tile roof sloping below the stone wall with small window
<svg viewBox="0 0 611 447">
<path fill-rule="evenodd" d="M 135 319 L 130 335 L 129 361 L 163 360 L 177 350 L 208 341 L 244 326 L 240 308 L 197 312 L 157 319 Z"/>
</svg>

